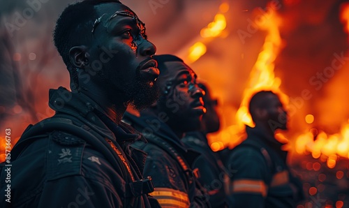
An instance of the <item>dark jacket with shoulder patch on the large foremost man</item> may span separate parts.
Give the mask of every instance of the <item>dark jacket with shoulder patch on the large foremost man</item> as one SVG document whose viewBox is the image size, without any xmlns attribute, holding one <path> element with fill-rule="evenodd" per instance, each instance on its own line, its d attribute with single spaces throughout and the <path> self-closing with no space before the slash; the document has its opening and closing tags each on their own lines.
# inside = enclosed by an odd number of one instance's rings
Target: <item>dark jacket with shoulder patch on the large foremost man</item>
<svg viewBox="0 0 349 208">
<path fill-rule="evenodd" d="M 11 151 L 10 203 L 0 207 L 156 207 L 146 155 L 129 146 L 138 140 L 130 126 L 117 126 L 94 101 L 63 87 L 50 90 L 54 117 L 27 130 Z M 148 198 L 149 197 L 149 198 Z"/>
</svg>

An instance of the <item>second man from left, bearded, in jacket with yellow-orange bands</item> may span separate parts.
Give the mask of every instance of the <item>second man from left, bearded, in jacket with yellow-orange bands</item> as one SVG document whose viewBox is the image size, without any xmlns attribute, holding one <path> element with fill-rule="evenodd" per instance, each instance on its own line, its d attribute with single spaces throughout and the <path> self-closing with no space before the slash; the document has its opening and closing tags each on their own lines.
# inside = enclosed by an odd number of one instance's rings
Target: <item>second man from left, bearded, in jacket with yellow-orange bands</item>
<svg viewBox="0 0 349 208">
<path fill-rule="evenodd" d="M 200 154 L 188 149 L 181 138 L 200 128 L 206 109 L 203 91 L 194 71 L 178 57 L 154 56 L 161 71 L 158 102 L 140 112 L 140 117 L 125 114 L 124 121 L 142 132 L 145 142 L 135 146 L 147 152 L 144 174 L 153 178 L 151 193 L 162 207 L 210 207 L 205 189 L 198 183 L 198 171 L 191 165 Z"/>
</svg>

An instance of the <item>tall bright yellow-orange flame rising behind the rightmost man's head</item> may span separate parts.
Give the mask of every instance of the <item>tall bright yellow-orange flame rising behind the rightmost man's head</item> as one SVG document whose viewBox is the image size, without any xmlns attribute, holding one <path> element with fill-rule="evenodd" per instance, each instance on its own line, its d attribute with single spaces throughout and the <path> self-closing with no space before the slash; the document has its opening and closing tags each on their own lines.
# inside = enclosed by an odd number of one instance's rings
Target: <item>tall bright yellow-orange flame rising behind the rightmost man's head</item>
<svg viewBox="0 0 349 208">
<path fill-rule="evenodd" d="M 288 96 L 279 89 L 281 79 L 274 74 L 274 61 L 282 45 L 279 33 L 281 18 L 274 10 L 271 10 L 264 20 L 263 22 L 255 22 L 258 29 L 267 31 L 267 36 L 262 46 L 262 51 L 258 54 L 257 61 L 251 70 L 248 86 L 244 90 L 242 103 L 235 116 L 236 124 L 224 129 L 219 135 L 220 138 L 224 139 L 225 143 L 228 143 L 230 148 L 242 142 L 245 124 L 251 127 L 254 126 L 251 115 L 248 112 L 248 102 L 253 94 L 261 90 L 271 90 L 280 96 L 283 104 L 288 103 Z M 235 139 L 230 140 L 230 138 Z"/>
</svg>

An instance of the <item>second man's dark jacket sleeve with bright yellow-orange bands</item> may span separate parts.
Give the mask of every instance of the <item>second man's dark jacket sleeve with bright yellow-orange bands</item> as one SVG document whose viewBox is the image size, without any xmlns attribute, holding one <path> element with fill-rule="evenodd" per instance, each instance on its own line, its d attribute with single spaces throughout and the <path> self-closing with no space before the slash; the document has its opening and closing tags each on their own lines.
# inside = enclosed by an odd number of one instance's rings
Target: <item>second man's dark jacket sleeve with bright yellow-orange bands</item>
<svg viewBox="0 0 349 208">
<path fill-rule="evenodd" d="M 158 200 L 161 207 L 189 207 L 187 188 L 173 159 L 157 149 L 147 153 L 143 175 L 150 176 L 155 186 L 150 195 Z"/>
</svg>

